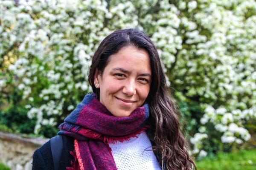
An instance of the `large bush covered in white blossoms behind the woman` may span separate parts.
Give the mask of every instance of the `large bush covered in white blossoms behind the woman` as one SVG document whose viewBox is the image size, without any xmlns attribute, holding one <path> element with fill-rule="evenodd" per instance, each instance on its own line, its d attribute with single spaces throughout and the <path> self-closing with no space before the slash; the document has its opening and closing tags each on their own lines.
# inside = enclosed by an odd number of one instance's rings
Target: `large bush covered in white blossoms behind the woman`
<svg viewBox="0 0 256 170">
<path fill-rule="evenodd" d="M 241 144 L 256 119 L 255 11 L 254 0 L 0 0 L 0 108 L 9 113 L 17 91 L 34 133 L 56 127 L 91 91 L 87 71 L 103 38 L 140 28 L 189 121 L 192 154 L 213 152 L 216 140 Z"/>
</svg>

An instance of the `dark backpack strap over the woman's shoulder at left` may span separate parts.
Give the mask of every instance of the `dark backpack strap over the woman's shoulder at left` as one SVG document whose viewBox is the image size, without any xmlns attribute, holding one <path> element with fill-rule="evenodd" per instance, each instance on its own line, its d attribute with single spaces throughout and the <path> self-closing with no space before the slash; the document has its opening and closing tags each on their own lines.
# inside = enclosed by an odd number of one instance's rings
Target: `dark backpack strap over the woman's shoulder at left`
<svg viewBox="0 0 256 170">
<path fill-rule="evenodd" d="M 63 148 L 62 135 L 57 135 L 52 137 L 52 139 L 50 140 L 50 143 L 51 143 L 52 160 L 53 160 L 54 169 L 58 170 L 60 160 L 61 160 L 62 148 Z"/>
</svg>

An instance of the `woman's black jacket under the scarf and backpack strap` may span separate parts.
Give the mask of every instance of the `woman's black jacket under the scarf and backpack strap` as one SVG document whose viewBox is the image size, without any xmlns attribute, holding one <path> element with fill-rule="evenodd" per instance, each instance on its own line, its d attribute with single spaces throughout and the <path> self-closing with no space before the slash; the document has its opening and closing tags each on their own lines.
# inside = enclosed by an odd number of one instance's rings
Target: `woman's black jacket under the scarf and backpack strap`
<svg viewBox="0 0 256 170">
<path fill-rule="evenodd" d="M 66 167 L 71 167 L 71 160 L 74 157 L 70 154 L 70 151 L 74 151 L 74 139 L 68 136 L 62 136 L 63 148 L 61 154 L 61 161 L 59 164 L 59 170 L 66 170 Z M 157 160 L 161 162 L 161 156 L 156 156 Z M 160 167 L 162 165 L 160 164 Z M 50 141 L 45 143 L 42 147 L 35 150 L 33 154 L 32 170 L 54 170 L 52 151 Z"/>
</svg>

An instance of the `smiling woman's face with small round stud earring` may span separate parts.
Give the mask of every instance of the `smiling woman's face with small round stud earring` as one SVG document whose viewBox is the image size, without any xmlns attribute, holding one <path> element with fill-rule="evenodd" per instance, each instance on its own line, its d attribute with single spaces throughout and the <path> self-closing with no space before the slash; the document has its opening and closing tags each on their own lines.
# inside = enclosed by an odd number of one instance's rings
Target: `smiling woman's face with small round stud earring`
<svg viewBox="0 0 256 170">
<path fill-rule="evenodd" d="M 148 53 L 128 46 L 113 54 L 103 74 L 94 76 L 99 84 L 99 102 L 113 116 L 127 117 L 140 107 L 148 96 L 151 85 L 151 66 Z"/>
</svg>

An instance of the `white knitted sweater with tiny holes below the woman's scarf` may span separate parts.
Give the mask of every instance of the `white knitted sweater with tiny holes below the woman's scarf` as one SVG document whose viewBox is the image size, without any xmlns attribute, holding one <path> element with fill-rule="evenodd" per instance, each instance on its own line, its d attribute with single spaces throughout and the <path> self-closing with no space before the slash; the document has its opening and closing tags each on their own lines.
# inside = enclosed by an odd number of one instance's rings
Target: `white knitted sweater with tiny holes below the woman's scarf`
<svg viewBox="0 0 256 170">
<path fill-rule="evenodd" d="M 145 133 L 109 146 L 118 170 L 161 170 Z"/>
</svg>

